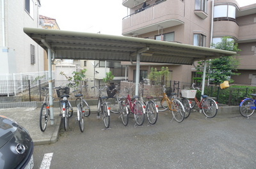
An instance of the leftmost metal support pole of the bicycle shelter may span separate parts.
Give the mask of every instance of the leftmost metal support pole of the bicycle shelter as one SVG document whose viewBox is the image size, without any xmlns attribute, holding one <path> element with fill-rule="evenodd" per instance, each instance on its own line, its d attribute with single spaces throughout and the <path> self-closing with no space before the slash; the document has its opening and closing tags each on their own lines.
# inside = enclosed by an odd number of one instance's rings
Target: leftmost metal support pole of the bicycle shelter
<svg viewBox="0 0 256 169">
<path fill-rule="evenodd" d="M 53 98 L 52 98 L 52 52 L 51 48 L 48 48 L 48 71 L 49 71 L 49 103 L 50 103 L 50 121 L 51 125 L 54 124 L 54 113 L 53 113 Z"/>
</svg>

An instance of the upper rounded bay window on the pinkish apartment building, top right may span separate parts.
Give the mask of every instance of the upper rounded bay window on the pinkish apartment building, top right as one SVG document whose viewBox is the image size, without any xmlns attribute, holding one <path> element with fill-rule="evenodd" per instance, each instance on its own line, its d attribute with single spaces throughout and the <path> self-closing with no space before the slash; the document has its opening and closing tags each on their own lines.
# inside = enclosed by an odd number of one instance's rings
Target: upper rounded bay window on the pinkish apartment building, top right
<svg viewBox="0 0 256 169">
<path fill-rule="evenodd" d="M 214 21 L 236 21 L 236 7 L 232 4 L 214 6 Z"/>
</svg>

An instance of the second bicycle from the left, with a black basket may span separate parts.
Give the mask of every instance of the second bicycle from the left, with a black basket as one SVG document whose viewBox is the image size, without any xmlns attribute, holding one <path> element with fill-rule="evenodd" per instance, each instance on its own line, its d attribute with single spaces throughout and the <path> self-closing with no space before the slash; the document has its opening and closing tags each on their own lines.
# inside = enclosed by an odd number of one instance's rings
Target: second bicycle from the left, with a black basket
<svg viewBox="0 0 256 169">
<path fill-rule="evenodd" d="M 69 86 L 70 84 L 68 84 Z M 69 98 L 69 87 L 58 87 L 56 90 L 58 98 L 60 98 L 60 117 L 63 119 L 63 126 L 65 131 L 67 131 L 68 127 L 68 118 L 72 117 L 73 115 L 73 108 L 70 102 L 68 101 Z"/>
</svg>

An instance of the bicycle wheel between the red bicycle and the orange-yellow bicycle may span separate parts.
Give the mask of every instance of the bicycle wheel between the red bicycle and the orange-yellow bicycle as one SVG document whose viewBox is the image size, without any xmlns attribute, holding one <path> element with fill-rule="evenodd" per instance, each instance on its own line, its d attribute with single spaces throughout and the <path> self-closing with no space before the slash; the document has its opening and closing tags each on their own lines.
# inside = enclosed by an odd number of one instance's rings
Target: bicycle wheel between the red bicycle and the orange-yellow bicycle
<svg viewBox="0 0 256 169">
<path fill-rule="evenodd" d="M 157 110 L 156 103 L 154 103 L 154 101 L 148 102 L 146 112 L 147 112 L 148 122 L 150 124 L 156 124 L 157 117 L 158 117 L 158 110 Z"/>
</svg>

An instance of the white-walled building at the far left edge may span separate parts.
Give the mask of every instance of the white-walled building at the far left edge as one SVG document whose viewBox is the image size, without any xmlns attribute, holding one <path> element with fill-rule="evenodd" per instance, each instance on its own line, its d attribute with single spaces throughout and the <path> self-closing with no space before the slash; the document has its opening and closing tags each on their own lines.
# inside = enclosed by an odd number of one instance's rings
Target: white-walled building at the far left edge
<svg viewBox="0 0 256 169">
<path fill-rule="evenodd" d="M 23 32 L 38 27 L 39 7 L 40 0 L 1 1 L 0 74 L 44 71 L 43 49 Z"/>
</svg>

